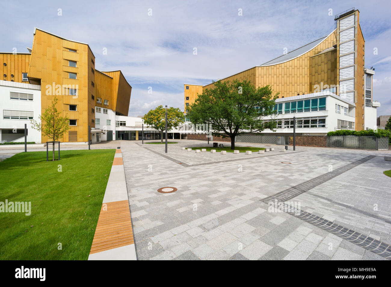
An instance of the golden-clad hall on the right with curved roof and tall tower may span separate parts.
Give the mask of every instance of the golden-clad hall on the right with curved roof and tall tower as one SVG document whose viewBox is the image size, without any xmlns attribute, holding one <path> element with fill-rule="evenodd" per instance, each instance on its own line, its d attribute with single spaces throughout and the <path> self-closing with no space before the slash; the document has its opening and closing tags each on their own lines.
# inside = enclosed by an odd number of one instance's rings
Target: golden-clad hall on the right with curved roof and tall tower
<svg viewBox="0 0 391 287">
<path fill-rule="evenodd" d="M 359 11 L 350 9 L 335 16 L 335 29 L 330 34 L 221 80 L 249 80 L 256 87 L 271 85 L 274 93 L 279 93 L 280 99 L 330 91 L 355 106 L 355 130 L 363 130 L 368 126 L 373 128 L 372 119 L 368 125 L 364 125 L 366 107 L 378 106 L 378 103 L 372 104 L 371 82 L 374 72 L 364 68 L 364 51 Z M 368 78 L 367 83 L 364 78 Z M 188 105 L 194 103 L 197 94 L 213 86 L 213 83 L 206 86 L 185 84 L 185 111 Z M 329 108 L 334 109 L 331 106 Z M 369 116 L 373 117 L 372 111 Z"/>
</svg>

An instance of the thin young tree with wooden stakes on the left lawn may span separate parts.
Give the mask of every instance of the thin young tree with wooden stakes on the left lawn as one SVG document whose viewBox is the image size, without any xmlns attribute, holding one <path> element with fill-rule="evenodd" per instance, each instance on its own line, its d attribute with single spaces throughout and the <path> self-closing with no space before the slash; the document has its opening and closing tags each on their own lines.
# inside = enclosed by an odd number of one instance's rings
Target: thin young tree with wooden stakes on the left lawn
<svg viewBox="0 0 391 287">
<path fill-rule="evenodd" d="M 43 114 L 39 116 L 40 122 L 35 119 L 31 120 L 31 127 L 34 130 L 39 130 L 43 135 L 46 135 L 52 141 L 57 141 L 63 134 L 70 129 L 69 118 L 63 117 L 61 111 L 57 111 L 56 104 L 58 100 L 55 97 L 52 104 L 45 109 Z M 53 144 L 53 161 L 54 161 L 54 144 Z"/>
</svg>

